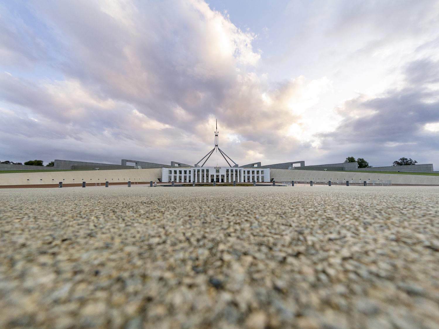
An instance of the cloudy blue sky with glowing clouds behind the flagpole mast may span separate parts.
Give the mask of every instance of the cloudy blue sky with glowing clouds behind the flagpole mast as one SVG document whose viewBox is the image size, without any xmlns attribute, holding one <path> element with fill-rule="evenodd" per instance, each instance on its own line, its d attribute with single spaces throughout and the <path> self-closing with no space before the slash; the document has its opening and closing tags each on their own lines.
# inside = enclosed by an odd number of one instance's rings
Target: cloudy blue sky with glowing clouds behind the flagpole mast
<svg viewBox="0 0 439 329">
<path fill-rule="evenodd" d="M 0 160 L 439 170 L 439 1 L 0 1 Z M 227 166 L 219 153 L 206 165 Z"/>
</svg>

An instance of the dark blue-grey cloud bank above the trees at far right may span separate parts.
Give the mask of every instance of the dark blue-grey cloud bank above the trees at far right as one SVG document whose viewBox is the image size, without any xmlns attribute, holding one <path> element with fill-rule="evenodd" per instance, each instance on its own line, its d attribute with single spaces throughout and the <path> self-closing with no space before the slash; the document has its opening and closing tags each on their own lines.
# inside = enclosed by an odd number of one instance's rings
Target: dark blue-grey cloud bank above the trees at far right
<svg viewBox="0 0 439 329">
<path fill-rule="evenodd" d="M 405 69 L 403 88 L 346 101 L 338 109 L 345 118 L 335 132 L 320 136 L 321 148 L 368 157 L 376 166 L 392 165 L 389 160 L 399 157 L 438 161 L 439 129 L 425 129 L 439 122 L 439 97 L 437 89 L 431 88 L 439 79 L 438 64 L 427 59 L 413 61 Z"/>
</svg>

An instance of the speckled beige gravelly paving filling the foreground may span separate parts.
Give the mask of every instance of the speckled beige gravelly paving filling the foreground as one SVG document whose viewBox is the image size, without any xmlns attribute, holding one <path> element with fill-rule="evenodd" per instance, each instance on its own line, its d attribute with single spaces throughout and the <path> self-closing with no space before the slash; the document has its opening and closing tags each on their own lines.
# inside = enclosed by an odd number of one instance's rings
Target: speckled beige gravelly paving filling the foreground
<svg viewBox="0 0 439 329">
<path fill-rule="evenodd" d="M 435 186 L 0 191 L 1 328 L 438 328 Z"/>
</svg>

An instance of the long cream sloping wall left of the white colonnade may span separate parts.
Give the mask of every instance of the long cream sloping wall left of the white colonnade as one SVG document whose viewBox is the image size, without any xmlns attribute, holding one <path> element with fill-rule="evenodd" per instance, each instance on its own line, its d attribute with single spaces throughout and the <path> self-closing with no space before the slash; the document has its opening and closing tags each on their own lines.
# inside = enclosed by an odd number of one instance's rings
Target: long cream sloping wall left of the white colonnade
<svg viewBox="0 0 439 329">
<path fill-rule="evenodd" d="M 162 179 L 162 168 L 73 172 L 17 172 L 0 174 L 0 185 L 40 185 L 108 182 L 150 182 Z"/>
</svg>

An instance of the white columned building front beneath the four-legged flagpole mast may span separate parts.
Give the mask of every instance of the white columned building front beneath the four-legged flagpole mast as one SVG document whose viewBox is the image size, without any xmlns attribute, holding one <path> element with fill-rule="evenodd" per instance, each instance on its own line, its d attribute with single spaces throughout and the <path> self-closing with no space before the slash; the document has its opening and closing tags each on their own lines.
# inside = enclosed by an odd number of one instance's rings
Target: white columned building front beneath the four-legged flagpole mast
<svg viewBox="0 0 439 329">
<path fill-rule="evenodd" d="M 231 183 L 270 182 L 269 168 L 192 167 L 162 168 L 162 182 Z"/>
</svg>

